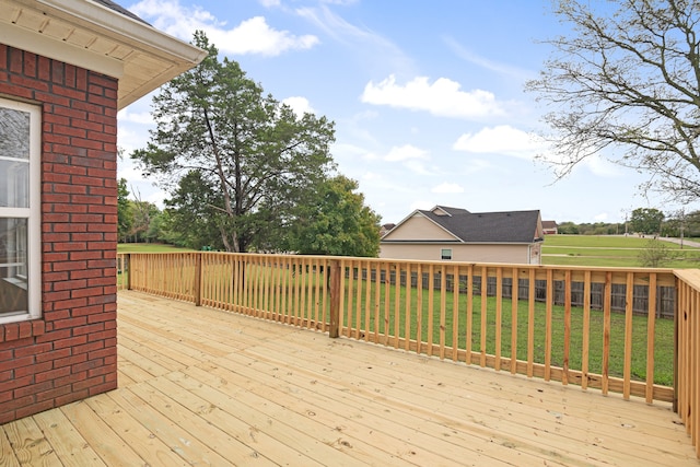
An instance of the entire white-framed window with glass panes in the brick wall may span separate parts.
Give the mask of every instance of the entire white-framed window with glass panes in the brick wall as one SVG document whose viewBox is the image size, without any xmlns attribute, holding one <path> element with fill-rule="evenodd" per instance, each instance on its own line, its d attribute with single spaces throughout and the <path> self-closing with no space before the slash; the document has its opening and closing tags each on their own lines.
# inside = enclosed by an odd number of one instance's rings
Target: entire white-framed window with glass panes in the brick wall
<svg viewBox="0 0 700 467">
<path fill-rule="evenodd" d="M 0 98 L 0 324 L 40 315 L 39 119 Z"/>
</svg>

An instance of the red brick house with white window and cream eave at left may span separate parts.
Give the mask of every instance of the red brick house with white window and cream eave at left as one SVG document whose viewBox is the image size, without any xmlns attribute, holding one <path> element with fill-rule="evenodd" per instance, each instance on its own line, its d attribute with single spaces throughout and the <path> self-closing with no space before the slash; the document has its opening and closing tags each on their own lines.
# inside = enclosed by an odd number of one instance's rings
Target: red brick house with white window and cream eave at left
<svg viewBox="0 0 700 467">
<path fill-rule="evenodd" d="M 110 1 L 2 0 L 0 423 L 117 387 L 117 112 L 205 55 Z"/>
</svg>

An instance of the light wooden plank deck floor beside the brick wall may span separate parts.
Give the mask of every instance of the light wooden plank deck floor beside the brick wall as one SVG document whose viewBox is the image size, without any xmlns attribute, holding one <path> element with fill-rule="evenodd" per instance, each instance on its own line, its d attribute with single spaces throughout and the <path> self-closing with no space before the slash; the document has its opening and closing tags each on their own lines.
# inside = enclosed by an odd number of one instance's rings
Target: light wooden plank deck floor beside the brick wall
<svg viewBox="0 0 700 467">
<path fill-rule="evenodd" d="M 119 389 L 0 427 L 0 465 L 698 466 L 669 406 L 119 292 Z"/>
</svg>

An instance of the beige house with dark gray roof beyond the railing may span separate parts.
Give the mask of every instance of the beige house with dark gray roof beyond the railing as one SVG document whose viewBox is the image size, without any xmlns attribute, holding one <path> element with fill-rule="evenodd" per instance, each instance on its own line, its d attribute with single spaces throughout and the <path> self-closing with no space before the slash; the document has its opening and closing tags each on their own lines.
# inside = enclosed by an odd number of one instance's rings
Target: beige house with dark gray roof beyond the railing
<svg viewBox="0 0 700 467">
<path fill-rule="evenodd" d="M 416 210 L 380 243 L 381 258 L 539 265 L 539 211 Z"/>
</svg>

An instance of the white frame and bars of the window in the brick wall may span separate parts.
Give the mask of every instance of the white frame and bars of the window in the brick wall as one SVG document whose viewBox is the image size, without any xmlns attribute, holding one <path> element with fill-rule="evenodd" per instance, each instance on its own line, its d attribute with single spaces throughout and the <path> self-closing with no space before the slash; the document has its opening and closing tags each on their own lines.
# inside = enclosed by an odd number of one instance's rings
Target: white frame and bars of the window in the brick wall
<svg viewBox="0 0 700 467">
<path fill-rule="evenodd" d="M 26 104 L 0 97 L 0 107 L 30 114 L 30 207 L 0 207 L 0 218 L 27 220 L 27 275 L 16 276 L 26 283 L 27 313 L 0 315 L 0 325 L 36 319 L 42 316 L 42 109 L 38 105 Z"/>
</svg>

